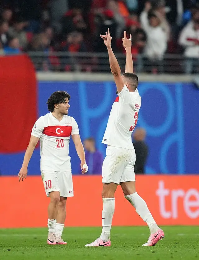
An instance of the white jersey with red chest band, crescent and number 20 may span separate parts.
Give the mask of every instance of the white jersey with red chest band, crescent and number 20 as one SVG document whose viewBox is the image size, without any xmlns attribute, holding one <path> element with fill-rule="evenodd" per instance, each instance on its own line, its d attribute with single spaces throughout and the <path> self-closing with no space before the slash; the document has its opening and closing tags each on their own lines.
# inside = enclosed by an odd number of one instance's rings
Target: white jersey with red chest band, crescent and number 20
<svg viewBox="0 0 199 260">
<path fill-rule="evenodd" d="M 70 136 L 79 134 L 75 119 L 64 115 L 59 121 L 52 113 L 41 116 L 33 126 L 31 135 L 40 138 L 40 169 L 68 171 L 71 169 Z"/>
</svg>

